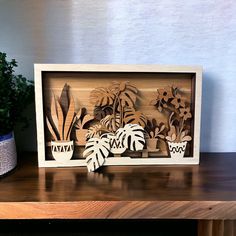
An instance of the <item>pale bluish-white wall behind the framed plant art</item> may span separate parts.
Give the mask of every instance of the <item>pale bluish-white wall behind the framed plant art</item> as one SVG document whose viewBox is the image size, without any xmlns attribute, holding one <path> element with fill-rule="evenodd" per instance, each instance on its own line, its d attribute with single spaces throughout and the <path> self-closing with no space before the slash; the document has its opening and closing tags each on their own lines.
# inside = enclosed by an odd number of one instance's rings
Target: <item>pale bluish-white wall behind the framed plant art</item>
<svg viewBox="0 0 236 236">
<path fill-rule="evenodd" d="M 236 151 L 234 0 L 0 0 L 0 51 L 28 78 L 34 63 L 202 65 L 201 150 Z M 21 135 L 36 148 L 34 125 Z"/>
</svg>

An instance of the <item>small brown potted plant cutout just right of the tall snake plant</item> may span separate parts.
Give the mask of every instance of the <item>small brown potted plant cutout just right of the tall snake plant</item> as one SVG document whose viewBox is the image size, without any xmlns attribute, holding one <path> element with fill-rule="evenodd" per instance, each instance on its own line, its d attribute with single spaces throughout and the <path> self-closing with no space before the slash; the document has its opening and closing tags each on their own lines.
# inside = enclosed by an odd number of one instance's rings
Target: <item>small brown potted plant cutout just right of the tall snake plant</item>
<svg viewBox="0 0 236 236">
<path fill-rule="evenodd" d="M 75 134 L 79 146 L 84 146 L 86 144 L 88 129 L 85 128 L 85 125 L 94 119 L 94 116 L 84 113 L 85 108 L 82 108 L 76 115 Z"/>
</svg>

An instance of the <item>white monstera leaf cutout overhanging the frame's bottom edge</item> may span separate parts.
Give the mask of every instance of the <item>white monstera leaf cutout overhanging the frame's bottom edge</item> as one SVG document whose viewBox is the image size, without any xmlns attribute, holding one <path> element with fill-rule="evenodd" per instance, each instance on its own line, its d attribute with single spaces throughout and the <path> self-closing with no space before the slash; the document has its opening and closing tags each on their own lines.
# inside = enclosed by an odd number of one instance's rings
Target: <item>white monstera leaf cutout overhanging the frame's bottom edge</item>
<svg viewBox="0 0 236 236">
<path fill-rule="evenodd" d="M 95 171 L 105 162 L 110 150 L 108 138 L 90 138 L 85 145 L 83 157 L 86 158 L 88 171 Z"/>
</svg>

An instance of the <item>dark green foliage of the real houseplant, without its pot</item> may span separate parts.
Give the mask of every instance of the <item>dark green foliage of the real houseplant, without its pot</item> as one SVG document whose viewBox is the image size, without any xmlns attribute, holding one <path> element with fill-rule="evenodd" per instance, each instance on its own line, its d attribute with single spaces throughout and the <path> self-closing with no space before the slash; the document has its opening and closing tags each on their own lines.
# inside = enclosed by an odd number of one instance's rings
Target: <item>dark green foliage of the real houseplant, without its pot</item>
<svg viewBox="0 0 236 236">
<path fill-rule="evenodd" d="M 17 62 L 7 61 L 0 52 L 0 136 L 10 133 L 16 122 L 26 123 L 22 111 L 33 101 L 33 82 L 22 75 L 15 75 Z"/>
</svg>

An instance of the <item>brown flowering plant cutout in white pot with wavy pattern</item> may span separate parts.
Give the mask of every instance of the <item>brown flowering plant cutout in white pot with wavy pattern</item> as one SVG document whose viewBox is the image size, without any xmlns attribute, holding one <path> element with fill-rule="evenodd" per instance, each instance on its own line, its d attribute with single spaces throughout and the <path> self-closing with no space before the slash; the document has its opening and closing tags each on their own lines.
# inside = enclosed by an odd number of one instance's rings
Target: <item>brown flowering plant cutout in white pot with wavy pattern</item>
<svg viewBox="0 0 236 236">
<path fill-rule="evenodd" d="M 190 126 L 187 123 L 191 118 L 190 106 L 184 101 L 180 90 L 167 87 L 157 90 L 157 98 L 152 101 L 160 112 L 168 115 L 169 130 L 166 140 L 172 158 L 184 156 L 187 142 L 192 138 L 189 134 Z"/>
</svg>

